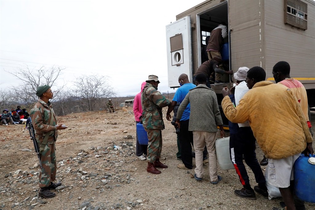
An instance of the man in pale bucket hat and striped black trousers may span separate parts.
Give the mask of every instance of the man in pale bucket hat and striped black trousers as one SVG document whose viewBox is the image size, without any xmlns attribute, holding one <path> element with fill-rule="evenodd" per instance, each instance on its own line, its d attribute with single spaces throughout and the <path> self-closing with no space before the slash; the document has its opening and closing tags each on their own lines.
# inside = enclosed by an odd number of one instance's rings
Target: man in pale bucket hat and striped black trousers
<svg viewBox="0 0 315 210">
<path fill-rule="evenodd" d="M 236 79 L 237 86 L 234 86 L 229 91 L 227 88 L 223 88 L 223 96 L 229 95 L 234 106 L 239 104 L 240 99 L 249 91 L 246 85 L 246 75 L 249 68 L 240 67 L 234 78 Z M 235 92 L 235 94 L 234 94 Z M 262 194 L 268 196 L 266 188 L 266 180 L 262 173 L 261 167 L 256 159 L 256 139 L 253 131 L 249 126 L 249 122 L 244 123 L 232 123 L 229 121 L 230 129 L 230 158 L 235 167 L 236 173 L 238 174 L 239 180 L 243 185 L 243 189 L 234 190 L 235 195 L 250 200 L 256 200 L 256 194 L 253 188 L 249 184 L 249 177 L 243 163 L 243 156 L 246 164 L 251 168 L 255 175 L 255 180 L 258 186 L 254 189 Z"/>
</svg>

